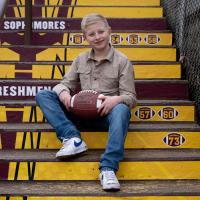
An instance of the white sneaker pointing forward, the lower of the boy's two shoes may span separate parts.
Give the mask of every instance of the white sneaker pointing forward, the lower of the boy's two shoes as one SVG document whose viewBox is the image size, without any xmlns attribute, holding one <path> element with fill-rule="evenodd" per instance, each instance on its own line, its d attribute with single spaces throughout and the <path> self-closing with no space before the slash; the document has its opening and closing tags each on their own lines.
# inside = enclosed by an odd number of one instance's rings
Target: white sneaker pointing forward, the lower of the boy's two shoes
<svg viewBox="0 0 200 200">
<path fill-rule="evenodd" d="M 102 171 L 99 179 L 103 190 L 120 190 L 120 184 L 114 171 Z"/>
</svg>

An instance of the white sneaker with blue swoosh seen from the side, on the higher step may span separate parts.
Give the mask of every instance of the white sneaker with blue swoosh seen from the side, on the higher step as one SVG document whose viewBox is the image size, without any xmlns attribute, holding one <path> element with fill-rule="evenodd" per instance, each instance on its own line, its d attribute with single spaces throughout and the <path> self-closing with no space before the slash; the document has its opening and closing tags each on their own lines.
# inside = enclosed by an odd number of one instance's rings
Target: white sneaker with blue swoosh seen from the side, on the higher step
<svg viewBox="0 0 200 200">
<path fill-rule="evenodd" d="M 85 142 L 78 138 L 70 138 L 63 141 L 62 148 L 56 153 L 56 158 L 65 158 L 87 151 Z"/>
</svg>

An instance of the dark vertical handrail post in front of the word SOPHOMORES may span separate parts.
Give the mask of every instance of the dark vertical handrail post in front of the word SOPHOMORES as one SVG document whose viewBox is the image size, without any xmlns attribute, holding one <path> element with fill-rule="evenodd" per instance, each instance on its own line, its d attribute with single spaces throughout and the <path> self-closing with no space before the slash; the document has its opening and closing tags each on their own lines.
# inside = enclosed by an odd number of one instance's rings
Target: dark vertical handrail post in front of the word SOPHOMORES
<svg viewBox="0 0 200 200">
<path fill-rule="evenodd" d="M 32 0 L 25 1 L 25 35 L 24 44 L 30 45 L 32 41 Z"/>
</svg>

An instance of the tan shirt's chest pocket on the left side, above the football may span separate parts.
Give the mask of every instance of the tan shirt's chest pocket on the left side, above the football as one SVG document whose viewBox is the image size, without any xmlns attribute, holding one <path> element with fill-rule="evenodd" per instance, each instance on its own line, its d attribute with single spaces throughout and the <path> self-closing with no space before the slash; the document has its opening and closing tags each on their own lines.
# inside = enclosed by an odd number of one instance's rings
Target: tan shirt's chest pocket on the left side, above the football
<svg viewBox="0 0 200 200">
<path fill-rule="evenodd" d="M 78 69 L 79 79 L 80 79 L 80 84 L 81 84 L 82 90 L 91 89 L 90 72 L 91 72 L 90 68 L 79 68 Z"/>
</svg>

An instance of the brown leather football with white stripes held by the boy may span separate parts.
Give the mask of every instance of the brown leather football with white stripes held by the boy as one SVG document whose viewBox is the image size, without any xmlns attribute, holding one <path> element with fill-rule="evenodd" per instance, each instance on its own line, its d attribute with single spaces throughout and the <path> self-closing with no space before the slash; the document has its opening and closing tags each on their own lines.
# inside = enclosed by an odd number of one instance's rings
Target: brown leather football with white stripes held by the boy
<svg viewBox="0 0 200 200">
<path fill-rule="evenodd" d="M 98 92 L 94 90 L 83 90 L 71 98 L 71 112 L 82 119 L 95 119 L 102 100 L 98 99 Z"/>
</svg>

